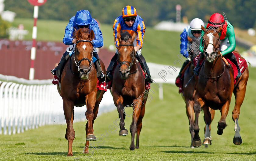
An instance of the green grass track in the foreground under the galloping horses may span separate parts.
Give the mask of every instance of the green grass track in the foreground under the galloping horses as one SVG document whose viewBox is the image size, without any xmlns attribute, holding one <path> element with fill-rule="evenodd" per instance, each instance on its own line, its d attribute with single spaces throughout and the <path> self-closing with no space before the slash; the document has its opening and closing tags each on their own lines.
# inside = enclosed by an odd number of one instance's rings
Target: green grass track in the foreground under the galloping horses
<svg viewBox="0 0 256 161">
<path fill-rule="evenodd" d="M 0 135 L 0 160 L 256 160 L 255 143 L 255 110 L 254 93 L 256 90 L 255 68 L 250 68 L 250 78 L 247 92 L 240 110 L 239 125 L 243 143 L 234 145 L 234 122 L 232 110 L 234 97 L 226 118 L 228 126 L 222 135 L 217 135 L 217 124 L 220 112 L 216 111 L 212 122 L 212 145 L 208 148 L 190 148 L 189 124 L 186 116 L 185 103 L 178 94 L 175 85 L 164 84 L 164 100 L 159 100 L 158 91 L 151 93 L 152 99 L 146 104 L 140 134 L 140 149 L 130 151 L 130 131 L 126 137 L 118 136 L 118 130 L 110 133 L 108 127 L 115 125 L 118 118 L 117 111 L 102 114 L 94 122 L 94 135 L 103 138 L 98 150 L 90 147 L 94 154 L 89 158 L 83 154 L 85 146 L 85 122 L 74 123 L 76 138 L 73 142 L 74 156 L 67 157 L 68 142 L 64 138 L 66 124 L 47 125 L 37 129 L 28 130 L 21 134 Z M 131 108 L 127 114 L 131 114 Z M 76 117 L 76 116 L 75 116 Z M 131 117 L 126 117 L 125 127 L 129 129 Z M 200 113 L 199 135 L 204 138 L 203 113 Z M 104 138 L 101 135 L 106 135 Z"/>
</svg>

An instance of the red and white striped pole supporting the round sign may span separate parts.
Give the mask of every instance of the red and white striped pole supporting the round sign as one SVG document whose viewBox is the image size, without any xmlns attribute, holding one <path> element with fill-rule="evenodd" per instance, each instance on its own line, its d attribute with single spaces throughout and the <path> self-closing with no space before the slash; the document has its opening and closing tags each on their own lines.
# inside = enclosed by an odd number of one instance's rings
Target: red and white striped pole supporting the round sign
<svg viewBox="0 0 256 161">
<path fill-rule="evenodd" d="M 34 6 L 34 26 L 32 30 L 32 48 L 31 48 L 31 63 L 30 63 L 30 70 L 29 70 L 29 79 L 34 79 L 34 61 L 36 58 L 36 38 L 37 38 L 37 17 L 38 17 L 38 5 Z"/>
</svg>

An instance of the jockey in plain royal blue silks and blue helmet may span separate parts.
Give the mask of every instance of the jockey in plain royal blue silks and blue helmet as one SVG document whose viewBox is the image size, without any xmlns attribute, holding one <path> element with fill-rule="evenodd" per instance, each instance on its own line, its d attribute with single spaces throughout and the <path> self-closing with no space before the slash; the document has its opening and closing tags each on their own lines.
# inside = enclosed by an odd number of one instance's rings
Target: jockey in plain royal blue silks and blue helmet
<svg viewBox="0 0 256 161">
<path fill-rule="evenodd" d="M 96 47 L 102 47 L 103 46 L 103 38 L 101 34 L 101 30 L 98 26 L 98 23 L 95 19 L 91 17 L 91 14 L 87 10 L 80 10 L 76 12 L 76 16 L 71 17 L 69 19 L 69 23 L 66 26 L 65 29 L 65 35 L 63 38 L 63 43 L 66 45 L 69 45 L 67 48 L 67 51 L 63 54 L 63 56 L 60 59 L 59 64 L 57 67 L 51 70 L 53 75 L 58 76 L 60 78 L 61 72 L 64 68 L 64 65 L 66 63 L 66 60 L 69 58 L 69 56 L 73 53 L 73 50 L 75 48 L 75 44 L 77 42 L 76 38 L 73 38 L 73 33 L 75 30 L 79 30 L 79 28 L 87 28 L 89 30 L 94 31 L 94 39 L 92 40 L 92 46 L 94 49 L 93 52 L 93 62 L 97 71 L 97 77 L 100 81 L 105 81 L 105 75 L 101 71 L 100 61 L 97 54 Z"/>
</svg>

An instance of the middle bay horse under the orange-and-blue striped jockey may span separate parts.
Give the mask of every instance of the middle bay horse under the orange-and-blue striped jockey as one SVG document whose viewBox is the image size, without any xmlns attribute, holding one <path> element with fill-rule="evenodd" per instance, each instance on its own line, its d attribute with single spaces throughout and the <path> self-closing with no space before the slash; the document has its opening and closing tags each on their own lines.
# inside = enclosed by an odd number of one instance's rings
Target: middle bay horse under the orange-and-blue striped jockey
<svg viewBox="0 0 256 161">
<path fill-rule="evenodd" d="M 142 118 L 145 113 L 145 104 L 149 89 L 145 89 L 143 71 L 135 58 L 133 40 L 136 37 L 127 31 L 117 34 L 119 40 L 118 61 L 119 64 L 113 72 L 112 96 L 120 118 L 120 136 L 126 136 L 128 130 L 124 127 L 125 116 L 132 116 L 130 125 L 131 145 L 130 150 L 139 148 L 139 137 L 142 127 Z M 125 113 L 126 107 L 133 107 L 133 113 Z M 136 147 L 134 137 L 137 132 Z"/>
</svg>

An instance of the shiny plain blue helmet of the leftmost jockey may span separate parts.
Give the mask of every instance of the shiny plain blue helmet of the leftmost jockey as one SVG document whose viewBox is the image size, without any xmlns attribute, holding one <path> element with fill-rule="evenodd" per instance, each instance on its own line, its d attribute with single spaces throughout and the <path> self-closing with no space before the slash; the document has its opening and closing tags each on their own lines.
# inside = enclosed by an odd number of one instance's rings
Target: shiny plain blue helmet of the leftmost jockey
<svg viewBox="0 0 256 161">
<path fill-rule="evenodd" d="M 91 23 L 91 14 L 87 10 L 80 10 L 76 12 L 75 16 L 76 25 L 89 25 Z"/>
</svg>

